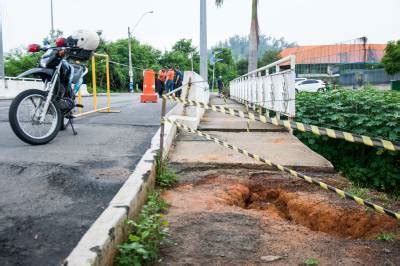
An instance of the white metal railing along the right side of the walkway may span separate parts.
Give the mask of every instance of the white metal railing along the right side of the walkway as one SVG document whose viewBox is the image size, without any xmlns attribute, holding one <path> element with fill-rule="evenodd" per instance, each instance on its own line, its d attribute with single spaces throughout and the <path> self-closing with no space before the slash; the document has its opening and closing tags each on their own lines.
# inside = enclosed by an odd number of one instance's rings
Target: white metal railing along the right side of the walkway
<svg viewBox="0 0 400 266">
<path fill-rule="evenodd" d="M 281 71 L 281 65 L 286 62 L 290 63 L 290 69 Z M 295 117 L 295 66 L 296 57 L 292 55 L 234 79 L 229 84 L 230 97 L 252 107 L 261 106 Z M 272 68 L 275 73 L 270 74 Z"/>
</svg>

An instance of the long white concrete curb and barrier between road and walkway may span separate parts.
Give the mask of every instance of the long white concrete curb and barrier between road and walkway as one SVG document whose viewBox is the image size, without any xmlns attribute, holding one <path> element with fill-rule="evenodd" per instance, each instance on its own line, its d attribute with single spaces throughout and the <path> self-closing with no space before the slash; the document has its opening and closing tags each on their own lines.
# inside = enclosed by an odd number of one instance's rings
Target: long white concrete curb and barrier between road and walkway
<svg viewBox="0 0 400 266">
<path fill-rule="evenodd" d="M 189 77 L 199 78 L 192 72 L 185 72 L 185 80 Z M 185 83 L 184 83 L 185 84 Z M 199 82 L 200 84 L 200 82 Z M 205 91 L 207 88 L 207 92 Z M 198 91 L 199 90 L 199 91 Z M 201 92 L 203 91 L 203 93 Z M 206 100 L 208 97 L 208 85 L 188 92 L 185 88 L 182 97 L 199 97 L 198 100 Z M 191 96 L 192 95 L 192 96 Z M 203 97 L 203 98 L 200 98 Z M 193 98 L 194 100 L 197 98 Z M 207 99 L 208 101 L 208 99 Z M 179 117 L 183 121 L 200 121 L 202 110 L 191 110 L 189 113 L 195 116 L 185 116 L 183 104 L 177 104 L 166 116 L 174 119 Z M 200 115 L 201 114 L 201 115 Z M 193 119 L 193 120 L 191 120 Z M 182 121 L 181 120 L 181 121 Z M 197 127 L 197 125 L 196 125 Z M 164 155 L 167 156 L 176 135 L 177 127 L 171 123 L 165 124 L 164 135 Z M 85 265 L 113 265 L 117 252 L 117 246 L 121 244 L 128 235 L 128 228 L 125 225 L 126 219 L 134 218 L 143 206 L 149 188 L 154 187 L 155 155 L 159 151 L 160 129 L 153 136 L 150 148 L 145 152 L 140 162 L 136 166 L 132 175 L 126 180 L 118 193 L 111 200 L 109 206 L 92 224 L 85 233 L 78 245 L 72 250 L 65 259 L 65 266 L 85 266 Z"/>
</svg>

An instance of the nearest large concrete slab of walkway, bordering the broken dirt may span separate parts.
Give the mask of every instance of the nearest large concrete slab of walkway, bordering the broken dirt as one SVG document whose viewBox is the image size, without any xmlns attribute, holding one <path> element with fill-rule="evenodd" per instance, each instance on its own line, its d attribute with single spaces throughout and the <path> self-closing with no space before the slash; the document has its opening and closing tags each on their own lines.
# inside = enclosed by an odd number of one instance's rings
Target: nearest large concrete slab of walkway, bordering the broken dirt
<svg viewBox="0 0 400 266">
<path fill-rule="evenodd" d="M 332 172 L 332 164 L 321 155 L 313 152 L 290 133 L 261 132 L 208 132 L 228 143 L 246 149 L 271 161 L 307 171 Z M 180 139 L 180 140 L 179 140 Z M 232 165 L 235 167 L 266 165 L 211 141 L 201 141 L 195 135 L 181 133 L 170 163 L 186 165 Z"/>
</svg>

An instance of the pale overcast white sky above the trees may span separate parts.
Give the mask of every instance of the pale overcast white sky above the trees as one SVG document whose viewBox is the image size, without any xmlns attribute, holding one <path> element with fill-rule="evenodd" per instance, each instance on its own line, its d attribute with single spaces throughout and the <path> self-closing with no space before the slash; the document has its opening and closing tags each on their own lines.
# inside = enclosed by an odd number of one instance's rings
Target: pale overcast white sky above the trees
<svg viewBox="0 0 400 266">
<path fill-rule="evenodd" d="M 50 31 L 50 0 L 0 0 L 4 50 L 40 43 Z M 135 38 L 160 50 L 181 38 L 199 43 L 200 0 L 53 0 L 54 26 L 102 30 L 107 40 Z M 251 0 L 207 0 L 209 48 L 250 30 Z M 367 36 L 369 43 L 400 39 L 400 0 L 259 0 L 261 33 L 300 45 L 332 44 Z"/>
</svg>

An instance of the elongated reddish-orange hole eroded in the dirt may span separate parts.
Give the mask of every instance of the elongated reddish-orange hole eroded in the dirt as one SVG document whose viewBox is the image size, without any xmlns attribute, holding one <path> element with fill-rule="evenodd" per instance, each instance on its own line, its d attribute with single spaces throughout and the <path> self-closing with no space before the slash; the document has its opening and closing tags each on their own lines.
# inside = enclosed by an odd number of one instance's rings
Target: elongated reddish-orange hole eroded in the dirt
<svg viewBox="0 0 400 266">
<path fill-rule="evenodd" d="M 326 198 L 282 188 L 235 184 L 220 197 L 229 205 L 263 212 L 271 218 L 285 219 L 335 236 L 372 238 L 382 231 L 397 231 L 399 225 L 389 217 L 348 204 L 337 205 Z"/>
</svg>

